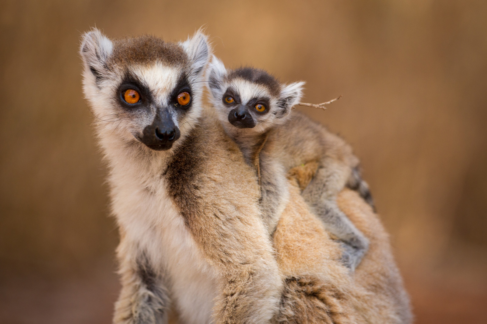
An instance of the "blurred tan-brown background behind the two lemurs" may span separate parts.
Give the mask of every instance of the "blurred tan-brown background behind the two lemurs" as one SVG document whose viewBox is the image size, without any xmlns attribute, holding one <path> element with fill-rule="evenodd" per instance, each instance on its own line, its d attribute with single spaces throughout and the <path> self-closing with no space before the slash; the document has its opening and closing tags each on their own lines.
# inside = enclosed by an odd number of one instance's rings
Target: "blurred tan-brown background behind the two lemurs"
<svg viewBox="0 0 487 324">
<path fill-rule="evenodd" d="M 110 323 L 119 286 L 79 35 L 180 40 L 307 82 L 362 160 L 418 324 L 487 323 L 487 1 L 0 6 L 0 323 Z"/>
</svg>

